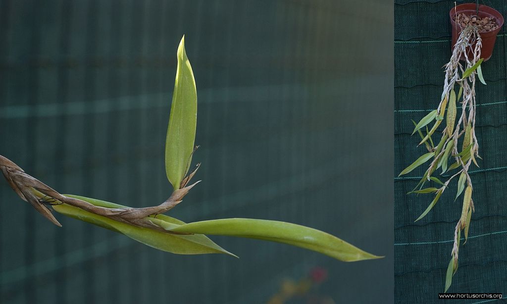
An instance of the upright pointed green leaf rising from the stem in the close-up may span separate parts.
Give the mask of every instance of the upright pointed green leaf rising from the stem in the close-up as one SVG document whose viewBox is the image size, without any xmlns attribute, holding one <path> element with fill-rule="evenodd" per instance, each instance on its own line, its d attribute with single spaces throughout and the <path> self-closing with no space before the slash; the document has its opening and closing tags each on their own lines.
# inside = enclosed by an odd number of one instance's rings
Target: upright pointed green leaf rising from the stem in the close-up
<svg viewBox="0 0 507 304">
<path fill-rule="evenodd" d="M 185 52 L 185 36 L 179 43 L 176 80 L 165 142 L 165 170 L 174 190 L 179 189 L 194 151 L 197 125 L 197 90 Z"/>
</svg>

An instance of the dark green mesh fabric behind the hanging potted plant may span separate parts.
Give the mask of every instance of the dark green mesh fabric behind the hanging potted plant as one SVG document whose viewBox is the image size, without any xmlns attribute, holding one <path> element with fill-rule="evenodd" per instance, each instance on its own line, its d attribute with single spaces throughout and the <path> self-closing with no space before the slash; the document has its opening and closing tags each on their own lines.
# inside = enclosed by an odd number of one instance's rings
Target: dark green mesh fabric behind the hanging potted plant
<svg viewBox="0 0 507 304">
<path fill-rule="evenodd" d="M 458 2 L 460 4 L 462 2 Z M 481 1 L 505 16 L 507 2 Z M 426 151 L 410 136 L 419 121 L 440 101 L 444 70 L 451 55 L 451 1 L 395 1 L 394 4 L 394 149 L 395 175 Z M 487 86 L 477 85 L 477 137 L 480 168 L 471 169 L 475 213 L 468 242 L 459 251 L 459 269 L 448 292 L 503 292 L 507 295 L 507 57 L 505 26 L 491 59 L 482 65 Z M 442 129 L 442 128 L 441 128 Z M 437 136 L 433 136 L 433 140 Z M 426 167 L 427 168 L 427 167 Z M 451 258 L 454 227 L 462 198 L 454 201 L 456 182 L 425 218 L 431 195 L 407 195 L 424 166 L 394 179 L 395 300 L 437 303 Z M 487 300 L 466 300 L 482 303 Z"/>
</svg>

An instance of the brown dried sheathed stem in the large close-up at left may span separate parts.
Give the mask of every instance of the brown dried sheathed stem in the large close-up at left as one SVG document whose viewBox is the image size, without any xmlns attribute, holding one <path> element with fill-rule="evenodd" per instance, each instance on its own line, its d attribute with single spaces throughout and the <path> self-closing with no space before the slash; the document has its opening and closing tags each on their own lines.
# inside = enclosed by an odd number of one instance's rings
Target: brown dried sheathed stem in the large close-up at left
<svg viewBox="0 0 507 304">
<path fill-rule="evenodd" d="M 158 206 L 146 208 L 104 208 L 59 194 L 53 188 L 47 186 L 37 178 L 26 174 L 23 169 L 11 160 L 0 155 L 0 170 L 2 170 L 7 182 L 16 194 L 22 200 L 29 202 L 44 217 L 58 226 L 61 226 L 61 224 L 58 220 L 56 220 L 46 205 L 64 203 L 120 222 L 157 229 L 166 233 L 172 233 L 154 224 L 152 221 L 148 220 L 147 217 L 167 212 L 182 202 L 183 198 L 187 195 L 190 189 L 199 182 L 197 181 L 187 186 L 198 168 L 199 165 L 197 165 L 196 168 L 184 179 L 184 181 L 182 181 L 182 188 L 174 191 L 165 202 Z"/>
</svg>

